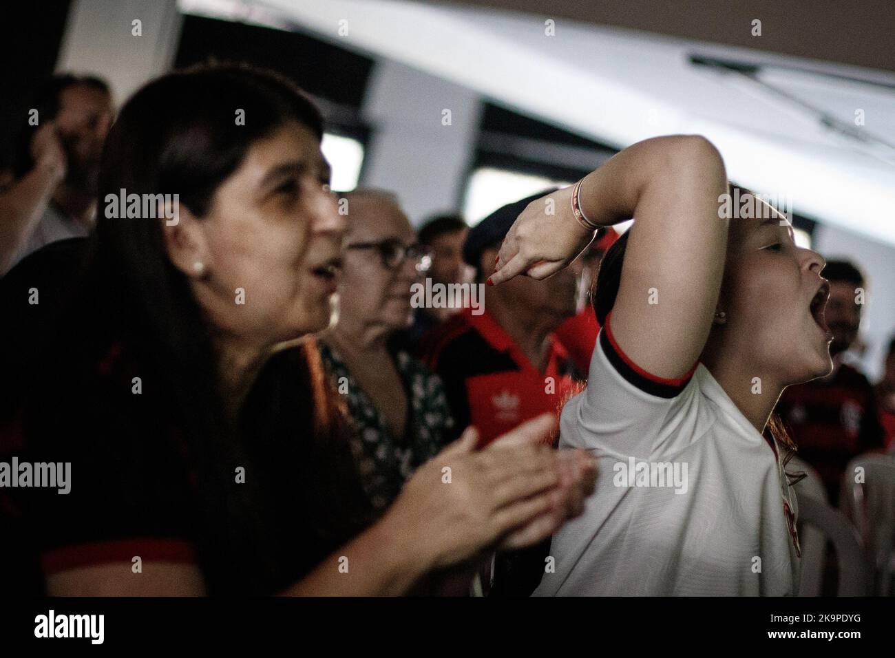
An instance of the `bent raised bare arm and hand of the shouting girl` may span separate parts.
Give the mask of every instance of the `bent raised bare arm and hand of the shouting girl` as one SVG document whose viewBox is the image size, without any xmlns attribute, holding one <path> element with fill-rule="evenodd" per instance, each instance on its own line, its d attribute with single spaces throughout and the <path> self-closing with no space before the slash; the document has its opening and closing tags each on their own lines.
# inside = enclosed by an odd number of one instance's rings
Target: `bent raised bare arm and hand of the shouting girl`
<svg viewBox="0 0 895 658">
<path fill-rule="evenodd" d="M 593 231 L 572 211 L 573 189 L 533 201 L 516 219 L 493 284 L 548 277 L 590 243 Z M 638 142 L 581 184 L 579 206 L 593 225 L 635 218 L 610 325 L 622 352 L 654 376 L 680 377 L 703 351 L 724 270 L 728 220 L 719 206 L 727 192 L 718 150 L 695 135 Z"/>
</svg>

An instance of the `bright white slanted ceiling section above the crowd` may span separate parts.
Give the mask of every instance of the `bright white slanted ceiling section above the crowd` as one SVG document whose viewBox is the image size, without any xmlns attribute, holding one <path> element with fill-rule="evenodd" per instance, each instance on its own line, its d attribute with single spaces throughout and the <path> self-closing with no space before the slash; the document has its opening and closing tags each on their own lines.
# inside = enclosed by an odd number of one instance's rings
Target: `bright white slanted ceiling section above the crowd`
<svg viewBox="0 0 895 658">
<path fill-rule="evenodd" d="M 221 0 L 190 2 L 206 3 Z M 559 17 L 548 38 L 542 12 L 471 4 L 253 0 L 251 6 L 266 8 L 286 29 L 402 62 L 617 148 L 661 134 L 704 134 L 738 184 L 786 195 L 799 214 L 895 245 L 893 73 Z M 704 27 L 714 18 L 700 21 Z M 347 34 L 340 34 L 342 24 Z M 743 76 L 695 65 L 694 55 L 760 69 Z"/>
</svg>

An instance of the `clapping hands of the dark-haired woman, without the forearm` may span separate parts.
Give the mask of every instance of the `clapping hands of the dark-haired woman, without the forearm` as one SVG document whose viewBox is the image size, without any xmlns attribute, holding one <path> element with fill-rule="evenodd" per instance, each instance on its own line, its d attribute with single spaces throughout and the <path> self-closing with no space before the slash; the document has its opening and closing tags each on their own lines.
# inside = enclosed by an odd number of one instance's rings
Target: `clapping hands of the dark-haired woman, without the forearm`
<svg viewBox="0 0 895 658">
<path fill-rule="evenodd" d="M 555 425 L 544 414 L 479 452 L 468 429 L 413 474 L 384 520 L 430 568 L 540 542 L 580 512 L 596 473 L 591 457 L 543 445 Z"/>
</svg>

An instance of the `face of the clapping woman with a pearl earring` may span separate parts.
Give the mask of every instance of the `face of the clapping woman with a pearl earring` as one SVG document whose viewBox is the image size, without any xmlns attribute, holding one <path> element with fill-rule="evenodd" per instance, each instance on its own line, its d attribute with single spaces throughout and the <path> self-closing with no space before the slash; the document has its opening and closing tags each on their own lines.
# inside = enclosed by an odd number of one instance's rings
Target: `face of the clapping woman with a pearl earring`
<svg viewBox="0 0 895 658">
<path fill-rule="evenodd" d="M 205 272 L 193 290 L 225 335 L 276 343 L 326 329 L 345 218 L 316 135 L 286 124 L 256 141 L 196 222 Z"/>
</svg>

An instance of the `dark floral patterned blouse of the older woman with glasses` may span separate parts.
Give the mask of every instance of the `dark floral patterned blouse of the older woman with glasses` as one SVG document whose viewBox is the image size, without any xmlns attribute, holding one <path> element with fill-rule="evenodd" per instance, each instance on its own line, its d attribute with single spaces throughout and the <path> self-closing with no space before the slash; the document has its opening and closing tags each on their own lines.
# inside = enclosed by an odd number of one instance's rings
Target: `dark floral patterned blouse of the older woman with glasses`
<svg viewBox="0 0 895 658">
<path fill-rule="evenodd" d="M 417 467 L 455 437 L 454 419 L 439 376 L 402 350 L 392 354 L 409 406 L 405 437 L 393 435 L 385 415 L 354 380 L 336 351 L 320 343 L 328 374 L 337 391 L 347 397 L 354 460 L 377 513 L 396 499 Z"/>
</svg>

